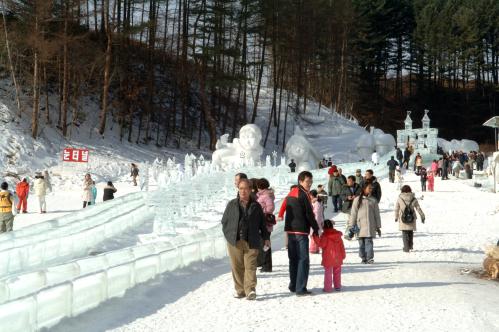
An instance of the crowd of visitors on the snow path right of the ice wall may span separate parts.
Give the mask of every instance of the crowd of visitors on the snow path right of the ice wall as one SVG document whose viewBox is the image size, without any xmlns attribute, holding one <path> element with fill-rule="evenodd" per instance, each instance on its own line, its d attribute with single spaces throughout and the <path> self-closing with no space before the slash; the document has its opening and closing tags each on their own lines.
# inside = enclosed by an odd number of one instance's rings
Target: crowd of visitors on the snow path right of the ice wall
<svg viewBox="0 0 499 332">
<path fill-rule="evenodd" d="M 404 173 L 409 169 L 414 150 L 397 148 L 395 156 L 386 163 L 390 183 L 397 183 L 400 195 L 395 202 L 395 222 L 402 232 L 402 250 L 414 248 L 414 231 L 418 215 L 425 223 L 422 211 L 413 189 L 404 184 Z M 483 169 L 485 156 L 481 152 L 468 154 L 457 152 L 444 154 L 439 160 L 425 164 L 420 153 L 416 153 L 411 165 L 412 171 L 421 182 L 421 191 L 434 191 L 435 178 L 448 179 L 449 174 L 459 178 L 454 165 L 458 163 L 465 170 L 466 177 L 473 169 Z M 373 163 L 379 164 L 379 157 L 373 155 Z M 290 170 L 294 172 L 294 161 Z M 427 166 L 427 167 L 425 167 Z M 297 184 L 292 185 L 281 204 L 277 220 L 284 220 L 286 249 L 289 259 L 290 292 L 297 296 L 311 295 L 307 288 L 310 270 L 310 254 L 322 254 L 324 267 L 324 292 L 341 290 L 341 266 L 346 257 L 343 239 L 357 239 L 359 257 L 363 264 L 374 264 L 374 241 L 381 236 L 379 202 L 381 185 L 374 171 L 357 169 L 354 175 L 345 177 L 341 168 L 331 159 L 324 158 L 319 168 L 328 168 L 327 191 L 324 185 L 312 189 L 313 175 L 308 171 L 298 174 Z M 274 218 L 274 192 L 267 179 L 247 179 L 246 174 L 235 176 L 237 197 L 230 201 L 225 210 L 222 225 L 227 240 L 235 294 L 237 298 L 256 298 L 256 270 L 272 272 L 272 250 L 270 234 L 276 223 Z M 330 198 L 333 213 L 347 215 L 345 235 L 335 229 L 335 221 L 324 216 Z"/>
</svg>

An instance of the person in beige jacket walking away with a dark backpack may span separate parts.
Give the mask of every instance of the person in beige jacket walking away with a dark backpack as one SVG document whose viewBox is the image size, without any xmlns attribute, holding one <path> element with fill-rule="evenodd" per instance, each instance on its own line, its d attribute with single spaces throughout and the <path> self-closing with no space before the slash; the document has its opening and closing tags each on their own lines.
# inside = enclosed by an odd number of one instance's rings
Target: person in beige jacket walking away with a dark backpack
<svg viewBox="0 0 499 332">
<path fill-rule="evenodd" d="M 404 241 L 404 252 L 413 250 L 413 236 L 416 230 L 416 210 L 421 216 L 421 222 L 424 224 L 425 215 L 418 200 L 414 196 L 411 187 L 404 185 L 395 204 L 395 222 L 399 223 L 399 230 L 402 231 L 402 239 Z"/>
</svg>

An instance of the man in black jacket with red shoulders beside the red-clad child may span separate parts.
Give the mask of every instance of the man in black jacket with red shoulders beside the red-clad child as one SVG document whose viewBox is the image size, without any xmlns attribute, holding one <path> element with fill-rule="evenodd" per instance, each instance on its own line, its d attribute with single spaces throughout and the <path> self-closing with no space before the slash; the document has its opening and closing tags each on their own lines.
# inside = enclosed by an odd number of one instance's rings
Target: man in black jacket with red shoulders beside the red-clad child
<svg viewBox="0 0 499 332">
<path fill-rule="evenodd" d="M 286 197 L 286 218 L 284 231 L 288 234 L 289 290 L 296 295 L 310 295 L 307 290 L 310 259 L 308 255 L 308 235 L 310 228 L 318 234 L 319 226 L 314 217 L 310 202 L 312 173 L 303 171 L 298 175 L 298 187 Z"/>
</svg>

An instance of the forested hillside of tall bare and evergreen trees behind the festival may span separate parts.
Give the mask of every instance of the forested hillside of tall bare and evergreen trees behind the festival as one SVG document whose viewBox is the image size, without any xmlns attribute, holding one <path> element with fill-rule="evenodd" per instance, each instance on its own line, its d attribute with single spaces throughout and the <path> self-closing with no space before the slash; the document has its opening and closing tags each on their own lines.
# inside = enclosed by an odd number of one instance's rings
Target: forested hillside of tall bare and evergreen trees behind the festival
<svg viewBox="0 0 499 332">
<path fill-rule="evenodd" d="M 313 98 L 387 131 L 429 108 L 444 137 L 492 140 L 478 129 L 498 113 L 496 0 L 1 4 L 2 74 L 35 138 L 46 125 L 67 135 L 94 95 L 101 135 L 116 121 L 123 140 L 213 149 L 255 121 L 265 85 L 277 133 L 286 109 L 312 112 Z"/>
</svg>

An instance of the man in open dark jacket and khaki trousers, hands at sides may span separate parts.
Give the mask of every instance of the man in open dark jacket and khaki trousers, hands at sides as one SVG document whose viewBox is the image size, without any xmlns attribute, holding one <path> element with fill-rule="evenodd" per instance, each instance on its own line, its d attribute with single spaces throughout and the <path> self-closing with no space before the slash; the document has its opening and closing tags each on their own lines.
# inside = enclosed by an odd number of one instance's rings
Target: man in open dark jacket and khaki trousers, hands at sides
<svg viewBox="0 0 499 332">
<path fill-rule="evenodd" d="M 251 196 L 248 179 L 239 180 L 239 195 L 231 200 L 222 217 L 222 228 L 232 267 L 234 297 L 256 298 L 256 268 L 260 238 L 270 247 L 262 207 Z"/>
</svg>

